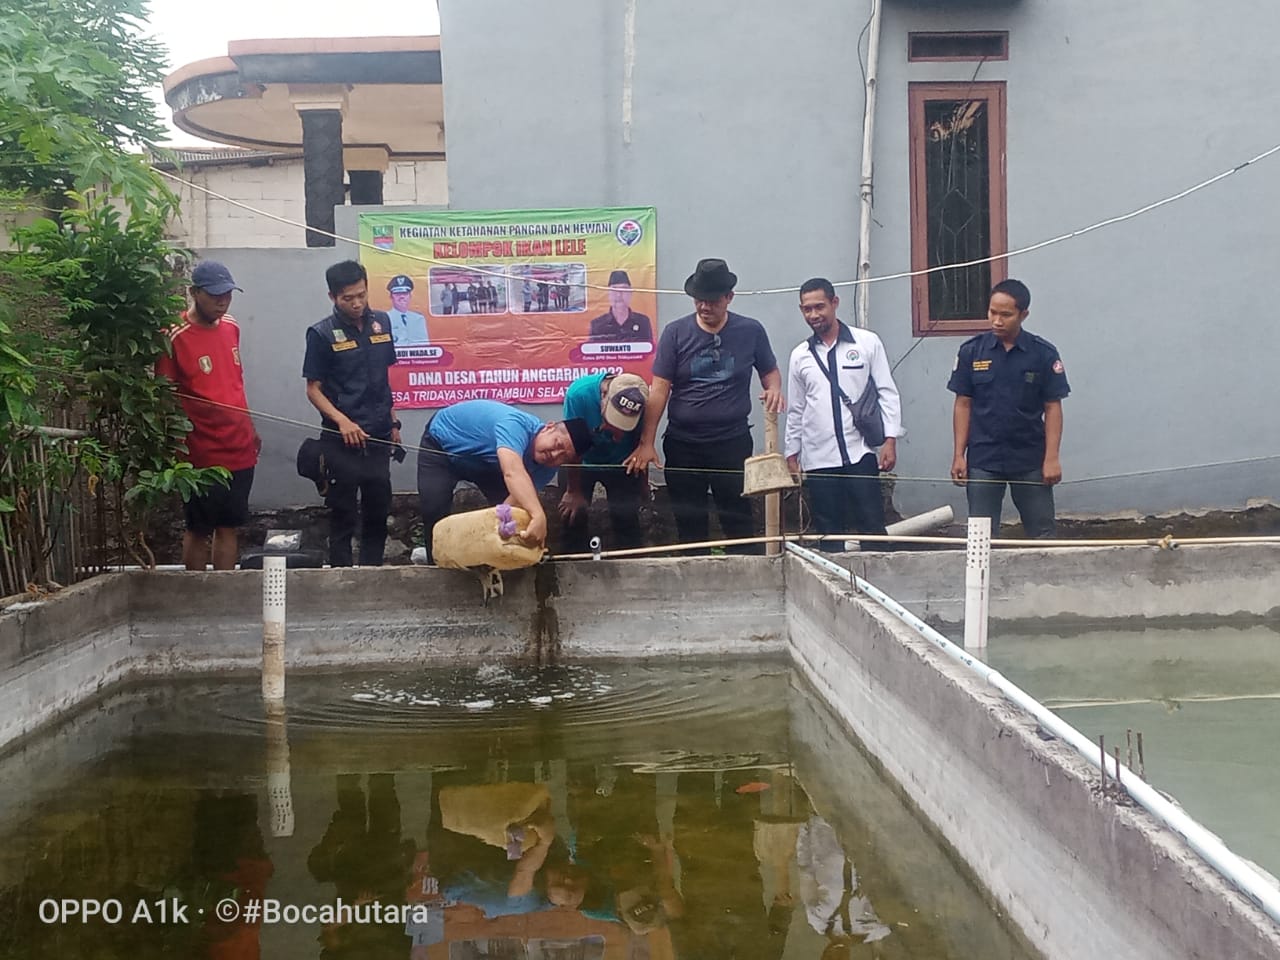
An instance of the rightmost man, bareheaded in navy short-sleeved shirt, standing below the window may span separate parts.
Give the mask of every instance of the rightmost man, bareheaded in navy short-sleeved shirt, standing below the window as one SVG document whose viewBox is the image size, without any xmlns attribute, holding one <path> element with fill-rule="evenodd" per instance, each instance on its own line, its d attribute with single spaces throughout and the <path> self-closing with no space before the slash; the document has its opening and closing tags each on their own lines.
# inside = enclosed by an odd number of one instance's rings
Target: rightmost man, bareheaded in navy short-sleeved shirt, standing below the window
<svg viewBox="0 0 1280 960">
<path fill-rule="evenodd" d="M 965 486 L 969 516 L 991 517 L 1009 484 L 1027 536 L 1053 536 L 1053 485 L 1062 479 L 1062 398 L 1071 388 L 1057 348 L 1023 329 L 1032 293 L 1019 280 L 991 291 L 991 332 L 960 346 L 947 389 L 955 453 L 951 479 Z"/>
</svg>

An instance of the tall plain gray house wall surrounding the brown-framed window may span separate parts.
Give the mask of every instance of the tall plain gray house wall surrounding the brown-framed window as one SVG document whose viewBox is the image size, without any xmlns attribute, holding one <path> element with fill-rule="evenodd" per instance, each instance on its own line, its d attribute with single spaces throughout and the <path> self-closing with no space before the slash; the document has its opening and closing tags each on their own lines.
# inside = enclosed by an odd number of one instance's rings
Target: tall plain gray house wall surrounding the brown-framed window
<svg viewBox="0 0 1280 960">
<path fill-rule="evenodd" d="M 622 0 L 440 0 L 449 204 L 454 209 L 653 204 L 659 285 L 723 256 L 741 289 L 855 274 L 869 0 L 635 4 L 630 142 Z M 495 29 L 494 24 L 502 24 Z M 876 140 L 873 274 L 910 266 L 906 84 L 969 81 L 975 63 L 906 61 L 909 31 L 1007 29 L 1009 242 L 1016 248 L 1133 210 L 1280 140 L 1266 82 L 1280 9 L 1230 15 L 1176 0 L 887 0 Z M 1064 512 L 1239 507 L 1275 497 L 1280 449 L 1268 311 L 1280 157 L 1175 205 L 1010 264 L 1028 329 L 1053 340 L 1065 403 Z M 854 292 L 845 289 L 851 317 Z M 660 320 L 689 301 L 660 301 Z M 805 335 L 794 294 L 739 297 L 780 360 Z M 913 346 L 910 284 L 872 289 L 893 358 Z M 909 435 L 900 508 L 950 502 L 960 338 L 920 343 L 897 371 Z M 1121 479 L 1116 474 L 1146 472 Z"/>
</svg>

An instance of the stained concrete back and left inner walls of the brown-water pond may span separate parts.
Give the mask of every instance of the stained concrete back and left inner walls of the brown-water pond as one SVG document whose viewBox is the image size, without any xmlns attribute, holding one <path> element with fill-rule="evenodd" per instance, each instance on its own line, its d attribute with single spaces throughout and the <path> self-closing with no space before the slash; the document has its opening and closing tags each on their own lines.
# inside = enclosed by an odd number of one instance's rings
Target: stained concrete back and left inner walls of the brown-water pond
<svg viewBox="0 0 1280 960">
<path fill-rule="evenodd" d="M 125 572 L 0 613 L 0 748 L 137 677 L 261 664 L 261 572 Z M 288 573 L 289 669 L 572 657 L 780 654 L 781 561 L 545 564 L 484 603 L 471 573 Z"/>
</svg>

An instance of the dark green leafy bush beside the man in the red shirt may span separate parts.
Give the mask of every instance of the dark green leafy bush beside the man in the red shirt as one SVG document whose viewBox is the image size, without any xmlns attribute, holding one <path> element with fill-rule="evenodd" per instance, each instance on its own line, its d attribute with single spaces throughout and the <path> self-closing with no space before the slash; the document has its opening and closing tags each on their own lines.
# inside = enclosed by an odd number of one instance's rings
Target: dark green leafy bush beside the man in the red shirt
<svg viewBox="0 0 1280 960">
<path fill-rule="evenodd" d="M 83 470 L 91 486 L 106 486 L 116 541 L 152 567 L 146 535 L 155 506 L 228 481 L 221 468 L 186 461 L 191 422 L 173 384 L 154 372 L 169 348 L 165 330 L 184 306 L 183 279 L 164 239 L 169 207 L 152 201 L 124 215 L 100 196 L 70 196 L 76 206 L 61 221 L 42 219 L 17 232 L 9 268 L 61 305 L 38 366 L 50 384 L 61 384 L 64 402 L 83 413 L 96 440 L 69 468 Z"/>
</svg>

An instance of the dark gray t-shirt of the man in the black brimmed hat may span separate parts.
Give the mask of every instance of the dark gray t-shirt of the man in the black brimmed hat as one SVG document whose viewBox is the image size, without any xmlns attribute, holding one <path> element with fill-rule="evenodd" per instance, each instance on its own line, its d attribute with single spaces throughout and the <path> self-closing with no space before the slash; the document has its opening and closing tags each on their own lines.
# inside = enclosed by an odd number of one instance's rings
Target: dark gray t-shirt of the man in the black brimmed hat
<svg viewBox="0 0 1280 960">
<path fill-rule="evenodd" d="M 741 436 L 751 416 L 751 370 L 778 369 L 759 320 L 730 314 L 718 334 L 690 314 L 667 324 L 653 360 L 654 376 L 671 380 L 667 436 L 716 443 Z"/>
</svg>

